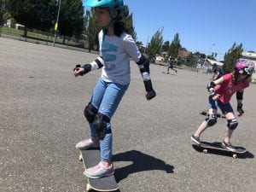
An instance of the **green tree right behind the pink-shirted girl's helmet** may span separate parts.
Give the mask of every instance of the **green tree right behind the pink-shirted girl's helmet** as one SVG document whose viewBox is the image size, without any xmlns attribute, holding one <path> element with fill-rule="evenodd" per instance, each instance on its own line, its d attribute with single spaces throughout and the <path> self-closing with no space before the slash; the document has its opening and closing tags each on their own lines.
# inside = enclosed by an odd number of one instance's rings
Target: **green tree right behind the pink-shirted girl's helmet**
<svg viewBox="0 0 256 192">
<path fill-rule="evenodd" d="M 234 63 L 236 62 L 236 60 L 241 58 L 242 51 L 242 44 L 234 43 L 229 49 L 228 53 L 225 53 L 223 66 L 225 73 L 230 73 L 233 71 Z"/>
</svg>

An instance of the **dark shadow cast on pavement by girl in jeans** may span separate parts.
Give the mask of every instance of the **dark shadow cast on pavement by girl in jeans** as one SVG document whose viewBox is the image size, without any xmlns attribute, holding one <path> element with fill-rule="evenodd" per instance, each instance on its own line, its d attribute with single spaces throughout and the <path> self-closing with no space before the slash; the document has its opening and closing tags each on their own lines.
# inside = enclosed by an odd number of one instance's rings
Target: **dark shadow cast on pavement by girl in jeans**
<svg viewBox="0 0 256 192">
<path fill-rule="evenodd" d="M 121 154 L 113 155 L 113 161 L 131 161 L 129 166 L 120 167 L 114 170 L 117 183 L 128 177 L 131 173 L 145 172 L 152 170 L 162 170 L 166 173 L 173 173 L 174 166 L 168 165 L 165 161 L 157 159 L 148 154 L 143 154 L 137 150 L 127 151 Z"/>
</svg>

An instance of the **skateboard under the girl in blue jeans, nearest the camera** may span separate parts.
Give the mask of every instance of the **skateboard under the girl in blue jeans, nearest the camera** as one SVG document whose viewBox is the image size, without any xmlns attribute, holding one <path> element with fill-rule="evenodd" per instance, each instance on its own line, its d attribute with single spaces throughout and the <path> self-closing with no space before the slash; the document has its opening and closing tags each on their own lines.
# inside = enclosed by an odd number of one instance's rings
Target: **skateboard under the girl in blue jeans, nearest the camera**
<svg viewBox="0 0 256 192">
<path fill-rule="evenodd" d="M 101 152 L 99 148 L 91 148 L 81 150 L 79 160 L 83 161 L 84 169 L 96 166 L 101 160 Z M 88 178 L 86 191 L 116 191 L 119 187 L 113 175 L 102 178 Z"/>
</svg>

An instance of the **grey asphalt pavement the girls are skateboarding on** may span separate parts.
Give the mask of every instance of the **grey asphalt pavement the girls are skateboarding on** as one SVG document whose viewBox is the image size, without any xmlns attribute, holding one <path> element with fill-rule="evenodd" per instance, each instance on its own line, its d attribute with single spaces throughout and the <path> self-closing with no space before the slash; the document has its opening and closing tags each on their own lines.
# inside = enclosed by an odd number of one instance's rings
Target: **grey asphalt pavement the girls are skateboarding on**
<svg viewBox="0 0 256 192">
<path fill-rule="evenodd" d="M 79 151 L 88 137 L 84 107 L 101 70 L 73 77 L 97 55 L 0 38 L 0 191 L 85 191 Z M 112 119 L 113 165 L 121 192 L 255 192 L 256 84 L 245 90 L 243 116 L 231 142 L 247 148 L 234 159 L 203 154 L 190 136 L 206 118 L 211 74 L 151 65 L 157 96 L 147 101 L 137 65 Z M 236 108 L 236 99 L 231 100 Z M 225 119 L 201 140 L 221 142 Z"/>
</svg>

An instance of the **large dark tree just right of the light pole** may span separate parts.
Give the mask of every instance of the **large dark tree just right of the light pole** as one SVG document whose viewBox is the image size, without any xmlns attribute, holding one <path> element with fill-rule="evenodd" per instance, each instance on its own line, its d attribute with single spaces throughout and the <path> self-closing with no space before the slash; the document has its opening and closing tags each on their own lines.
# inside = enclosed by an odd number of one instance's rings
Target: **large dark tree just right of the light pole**
<svg viewBox="0 0 256 192">
<path fill-rule="evenodd" d="M 64 37 L 79 36 L 84 30 L 84 7 L 81 0 L 61 0 L 58 30 Z M 65 43 L 65 38 L 63 38 Z"/>
</svg>

